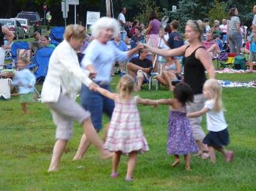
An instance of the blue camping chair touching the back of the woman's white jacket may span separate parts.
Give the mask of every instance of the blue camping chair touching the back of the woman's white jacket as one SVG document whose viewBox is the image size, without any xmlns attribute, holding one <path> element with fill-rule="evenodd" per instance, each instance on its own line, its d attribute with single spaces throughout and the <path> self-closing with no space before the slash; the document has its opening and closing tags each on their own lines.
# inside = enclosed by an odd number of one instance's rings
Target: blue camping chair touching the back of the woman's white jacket
<svg viewBox="0 0 256 191">
<path fill-rule="evenodd" d="M 34 75 L 37 79 L 37 82 L 43 82 L 48 72 L 48 65 L 50 56 L 53 53 L 53 48 L 51 47 L 42 47 L 37 50 L 34 55 L 35 63 L 32 63 L 30 66 L 37 66 L 37 70 L 34 72 Z"/>
</svg>

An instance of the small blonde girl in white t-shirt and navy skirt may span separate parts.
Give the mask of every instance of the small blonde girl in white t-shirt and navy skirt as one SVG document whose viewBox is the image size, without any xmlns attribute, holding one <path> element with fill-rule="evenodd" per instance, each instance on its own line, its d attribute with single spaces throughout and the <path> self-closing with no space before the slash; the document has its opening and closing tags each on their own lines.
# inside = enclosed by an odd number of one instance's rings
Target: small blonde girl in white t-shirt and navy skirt
<svg viewBox="0 0 256 191">
<path fill-rule="evenodd" d="M 203 85 L 203 95 L 207 99 L 204 108 L 199 112 L 187 114 L 187 117 L 199 117 L 206 114 L 209 133 L 203 139 L 203 144 L 208 145 L 211 162 L 216 163 L 215 150 L 217 150 L 222 152 L 227 163 L 230 163 L 234 152 L 224 148 L 229 143 L 229 136 L 222 108 L 222 86 L 216 79 L 208 79 Z"/>
</svg>

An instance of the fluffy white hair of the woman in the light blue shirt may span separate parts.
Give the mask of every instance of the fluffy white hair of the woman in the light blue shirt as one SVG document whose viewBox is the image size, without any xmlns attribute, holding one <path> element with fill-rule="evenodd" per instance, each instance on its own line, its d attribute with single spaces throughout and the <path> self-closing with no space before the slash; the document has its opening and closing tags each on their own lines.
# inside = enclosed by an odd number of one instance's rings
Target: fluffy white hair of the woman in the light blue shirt
<svg viewBox="0 0 256 191">
<path fill-rule="evenodd" d="M 94 23 L 94 25 L 91 26 L 91 34 L 94 36 L 94 38 L 98 38 L 102 33 L 102 30 L 106 28 L 113 29 L 112 37 L 116 37 L 116 35 L 120 32 L 120 26 L 116 19 L 111 17 L 101 17 L 96 23 Z"/>
</svg>

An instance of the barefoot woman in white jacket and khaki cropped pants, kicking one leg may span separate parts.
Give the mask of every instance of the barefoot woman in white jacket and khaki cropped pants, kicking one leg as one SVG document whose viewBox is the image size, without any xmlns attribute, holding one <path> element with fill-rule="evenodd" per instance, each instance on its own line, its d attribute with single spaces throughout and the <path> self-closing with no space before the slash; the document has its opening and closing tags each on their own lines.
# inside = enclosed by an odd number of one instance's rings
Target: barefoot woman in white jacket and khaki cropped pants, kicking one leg
<svg viewBox="0 0 256 191">
<path fill-rule="evenodd" d="M 72 136 L 72 120 L 83 125 L 86 137 L 99 149 L 102 158 L 111 157 L 102 149 L 102 141 L 91 123 L 91 114 L 75 102 L 81 83 L 94 90 L 96 85 L 89 79 L 89 71 L 80 69 L 76 50 L 86 39 L 86 31 L 80 25 L 67 26 L 64 42 L 50 57 L 48 75 L 42 87 L 42 103 L 50 108 L 56 125 L 56 143 L 48 171 L 57 171 L 61 155 Z"/>
</svg>

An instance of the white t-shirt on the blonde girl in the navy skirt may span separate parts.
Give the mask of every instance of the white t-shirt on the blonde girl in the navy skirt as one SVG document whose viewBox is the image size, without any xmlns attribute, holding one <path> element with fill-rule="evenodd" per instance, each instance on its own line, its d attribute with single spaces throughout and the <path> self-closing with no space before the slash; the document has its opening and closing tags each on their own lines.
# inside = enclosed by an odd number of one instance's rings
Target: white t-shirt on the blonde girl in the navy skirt
<svg viewBox="0 0 256 191">
<path fill-rule="evenodd" d="M 204 107 L 210 109 L 210 111 L 206 113 L 206 122 L 208 130 L 218 132 L 220 130 L 224 130 L 225 128 L 227 128 L 227 123 L 225 121 L 223 112 L 214 112 L 213 100 L 206 101 Z"/>
</svg>

